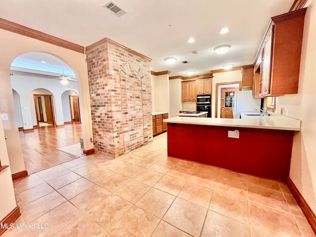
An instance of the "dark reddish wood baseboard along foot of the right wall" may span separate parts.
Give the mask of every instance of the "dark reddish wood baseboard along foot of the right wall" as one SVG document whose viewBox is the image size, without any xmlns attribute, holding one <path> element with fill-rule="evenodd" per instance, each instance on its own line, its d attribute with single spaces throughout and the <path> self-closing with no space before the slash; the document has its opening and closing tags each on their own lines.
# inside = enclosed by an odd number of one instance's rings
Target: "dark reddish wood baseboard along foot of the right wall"
<svg viewBox="0 0 316 237">
<path fill-rule="evenodd" d="M 293 194 L 293 197 L 295 198 L 297 204 L 302 209 L 302 211 L 303 211 L 304 215 L 306 216 L 306 219 L 310 223 L 313 231 L 316 234 L 316 216 L 315 216 L 315 213 L 312 211 L 309 204 L 306 202 L 304 197 L 298 191 L 298 189 L 296 188 L 295 184 L 293 183 L 293 181 L 291 180 L 290 177 L 287 177 L 286 184 L 287 184 L 287 187 L 289 188 L 289 190 L 291 191 L 291 193 Z"/>
</svg>

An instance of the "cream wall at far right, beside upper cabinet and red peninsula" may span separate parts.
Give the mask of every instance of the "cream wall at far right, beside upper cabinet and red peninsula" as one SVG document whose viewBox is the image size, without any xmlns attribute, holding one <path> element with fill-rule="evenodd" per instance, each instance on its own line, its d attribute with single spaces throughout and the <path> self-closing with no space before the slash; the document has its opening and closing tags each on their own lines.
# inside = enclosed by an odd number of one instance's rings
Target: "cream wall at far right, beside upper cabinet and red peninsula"
<svg viewBox="0 0 316 237">
<path fill-rule="evenodd" d="M 305 15 L 299 91 L 277 98 L 277 111 L 288 110 L 289 117 L 302 120 L 300 132 L 294 135 L 290 178 L 316 213 L 316 0 L 307 3 Z"/>
</svg>

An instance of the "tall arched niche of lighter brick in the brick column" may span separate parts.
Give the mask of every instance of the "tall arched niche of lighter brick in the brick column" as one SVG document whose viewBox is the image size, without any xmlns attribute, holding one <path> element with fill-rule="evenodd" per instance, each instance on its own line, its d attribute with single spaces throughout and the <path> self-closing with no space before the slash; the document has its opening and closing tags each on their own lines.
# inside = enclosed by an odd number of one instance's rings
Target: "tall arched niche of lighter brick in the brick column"
<svg viewBox="0 0 316 237">
<path fill-rule="evenodd" d="M 120 69 L 120 97 L 124 153 L 128 153 L 145 143 L 144 98 L 146 80 L 142 68 L 132 62 Z"/>
</svg>

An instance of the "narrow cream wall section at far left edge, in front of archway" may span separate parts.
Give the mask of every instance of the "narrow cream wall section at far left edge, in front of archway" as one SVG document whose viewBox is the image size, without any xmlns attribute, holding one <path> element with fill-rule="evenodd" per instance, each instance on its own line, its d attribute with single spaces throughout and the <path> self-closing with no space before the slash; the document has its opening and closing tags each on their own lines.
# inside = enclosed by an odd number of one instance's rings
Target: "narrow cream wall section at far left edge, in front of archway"
<svg viewBox="0 0 316 237">
<path fill-rule="evenodd" d="M 0 112 L 1 113 L 1 112 Z M 9 165 L 8 168 L 1 170 L 0 172 L 0 220 L 2 220 L 8 213 L 10 213 L 15 207 L 15 194 L 12 182 L 11 167 L 9 157 L 7 154 L 7 148 L 4 140 L 4 131 L 2 120 L 0 119 L 0 159 L 1 165 Z"/>
</svg>

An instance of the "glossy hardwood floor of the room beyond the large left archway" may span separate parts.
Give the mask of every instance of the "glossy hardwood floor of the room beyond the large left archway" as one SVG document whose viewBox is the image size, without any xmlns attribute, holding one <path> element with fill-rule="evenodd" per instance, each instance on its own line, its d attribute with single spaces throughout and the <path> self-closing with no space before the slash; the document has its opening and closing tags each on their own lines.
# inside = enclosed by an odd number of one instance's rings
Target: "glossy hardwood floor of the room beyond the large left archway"
<svg viewBox="0 0 316 237">
<path fill-rule="evenodd" d="M 65 124 L 65 127 L 43 126 L 34 132 L 20 131 L 25 168 L 29 174 L 78 158 L 57 148 L 80 142 L 81 124 Z"/>
</svg>

